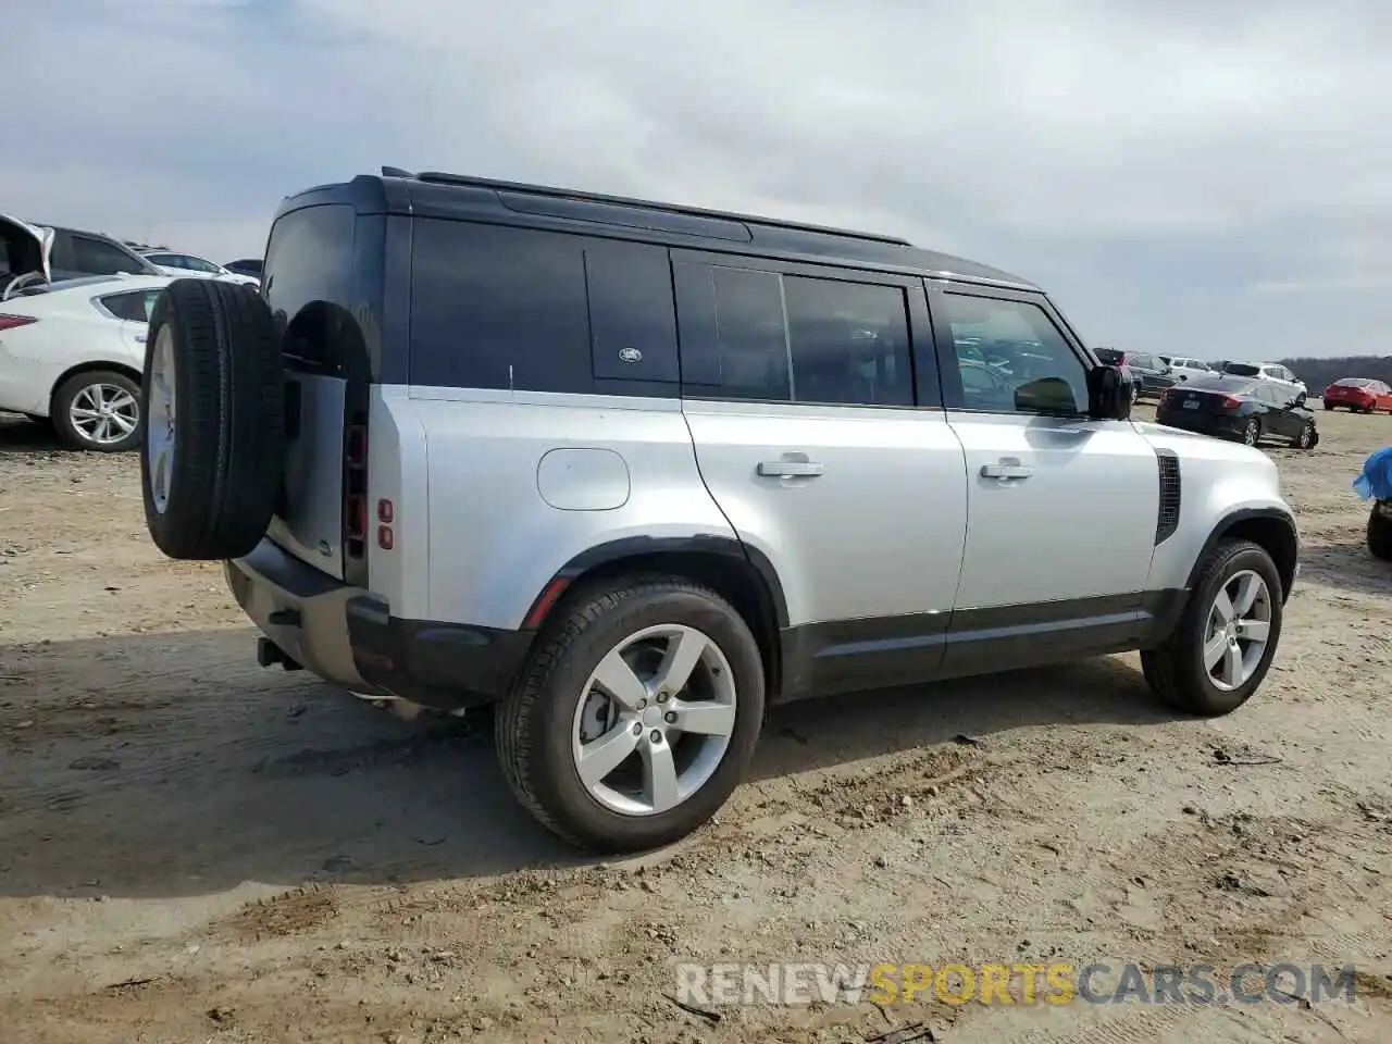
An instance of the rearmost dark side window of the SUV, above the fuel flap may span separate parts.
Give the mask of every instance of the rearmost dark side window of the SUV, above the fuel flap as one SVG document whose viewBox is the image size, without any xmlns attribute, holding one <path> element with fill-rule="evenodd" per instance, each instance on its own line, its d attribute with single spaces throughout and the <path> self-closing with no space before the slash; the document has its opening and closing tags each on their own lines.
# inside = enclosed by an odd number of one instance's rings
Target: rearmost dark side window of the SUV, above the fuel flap
<svg viewBox="0 0 1392 1044">
<path fill-rule="evenodd" d="M 416 221 L 412 384 L 675 394 L 678 376 L 664 248 Z"/>
</svg>

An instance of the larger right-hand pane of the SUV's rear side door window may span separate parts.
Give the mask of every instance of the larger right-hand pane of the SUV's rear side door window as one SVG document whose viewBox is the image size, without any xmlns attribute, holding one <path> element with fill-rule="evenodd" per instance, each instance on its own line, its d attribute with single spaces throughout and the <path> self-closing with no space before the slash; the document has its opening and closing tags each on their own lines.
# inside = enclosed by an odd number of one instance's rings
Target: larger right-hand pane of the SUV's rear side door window
<svg viewBox="0 0 1392 1044">
<path fill-rule="evenodd" d="M 784 277 L 796 402 L 912 406 L 903 291 Z"/>
</svg>

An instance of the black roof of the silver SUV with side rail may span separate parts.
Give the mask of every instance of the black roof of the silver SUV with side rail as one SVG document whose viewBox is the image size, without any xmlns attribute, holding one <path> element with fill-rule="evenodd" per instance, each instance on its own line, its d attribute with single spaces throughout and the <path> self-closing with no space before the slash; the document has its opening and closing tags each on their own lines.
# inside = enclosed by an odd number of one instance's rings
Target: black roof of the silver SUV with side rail
<svg viewBox="0 0 1392 1044">
<path fill-rule="evenodd" d="M 600 226 L 608 235 L 642 235 L 671 245 L 699 245 L 706 251 L 800 256 L 1038 290 L 1029 280 L 1001 269 L 926 251 L 896 237 L 462 174 L 409 174 L 383 167 L 381 174 L 363 174 L 349 182 L 319 185 L 288 196 L 277 216 L 316 203 L 352 203 L 359 213 L 525 223 L 571 231 L 583 223 L 592 232 Z"/>
</svg>

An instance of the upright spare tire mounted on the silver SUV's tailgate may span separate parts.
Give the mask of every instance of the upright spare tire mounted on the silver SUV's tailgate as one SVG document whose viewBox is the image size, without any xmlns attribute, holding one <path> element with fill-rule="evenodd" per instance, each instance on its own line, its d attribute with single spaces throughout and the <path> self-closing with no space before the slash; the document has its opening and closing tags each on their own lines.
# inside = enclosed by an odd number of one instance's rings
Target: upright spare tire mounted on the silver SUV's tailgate
<svg viewBox="0 0 1392 1044">
<path fill-rule="evenodd" d="M 284 470 L 284 376 L 266 303 L 185 278 L 150 313 L 141 387 L 145 525 L 170 558 L 238 558 L 270 523 Z"/>
</svg>

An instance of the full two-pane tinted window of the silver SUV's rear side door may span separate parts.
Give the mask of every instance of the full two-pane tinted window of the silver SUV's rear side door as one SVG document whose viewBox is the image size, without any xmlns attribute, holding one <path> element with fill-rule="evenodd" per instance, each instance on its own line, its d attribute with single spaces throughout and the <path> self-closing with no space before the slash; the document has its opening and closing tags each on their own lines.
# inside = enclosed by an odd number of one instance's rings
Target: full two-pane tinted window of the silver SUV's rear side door
<svg viewBox="0 0 1392 1044">
<path fill-rule="evenodd" d="M 901 287 L 674 264 L 682 381 L 764 402 L 912 406 Z"/>
</svg>

